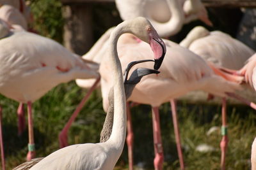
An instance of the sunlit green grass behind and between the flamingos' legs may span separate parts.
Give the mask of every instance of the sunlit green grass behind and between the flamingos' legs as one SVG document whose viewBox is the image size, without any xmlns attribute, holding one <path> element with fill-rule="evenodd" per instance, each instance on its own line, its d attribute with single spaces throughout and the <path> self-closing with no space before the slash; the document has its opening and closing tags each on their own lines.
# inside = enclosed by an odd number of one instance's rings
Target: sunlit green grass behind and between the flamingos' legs
<svg viewBox="0 0 256 170">
<path fill-rule="evenodd" d="M 74 82 L 59 85 L 33 104 L 35 142 L 37 157 L 45 157 L 58 150 L 58 133 L 67 122 L 86 90 Z M 28 132 L 17 136 L 18 103 L 0 97 L 3 106 L 3 130 L 8 169 L 24 162 L 27 153 Z M 219 169 L 220 131 L 206 136 L 212 126 L 221 125 L 221 107 L 206 104 L 178 103 L 179 125 L 187 169 Z M 164 146 L 164 169 L 179 169 L 179 160 L 173 134 L 170 104 L 160 108 L 161 129 Z M 81 114 L 69 132 L 69 143 L 96 143 L 104 122 L 100 91 L 93 92 Z M 153 169 L 154 148 L 150 106 L 132 108 L 134 128 L 134 163 L 142 162 L 146 169 Z M 256 131 L 255 111 L 246 106 L 228 106 L 227 169 L 250 169 L 250 147 Z M 196 152 L 197 145 L 206 143 L 216 151 Z M 127 169 L 127 147 L 116 169 Z"/>
</svg>

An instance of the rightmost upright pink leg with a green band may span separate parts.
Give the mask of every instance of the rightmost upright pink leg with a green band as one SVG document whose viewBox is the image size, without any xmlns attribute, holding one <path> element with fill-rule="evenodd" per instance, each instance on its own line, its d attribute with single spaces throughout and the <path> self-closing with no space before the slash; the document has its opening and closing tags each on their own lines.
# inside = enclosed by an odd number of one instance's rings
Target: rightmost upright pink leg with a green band
<svg viewBox="0 0 256 170">
<path fill-rule="evenodd" d="M 222 126 L 221 126 L 221 135 L 223 136 L 220 142 L 221 148 L 221 170 L 225 170 L 225 155 L 227 152 L 228 146 L 228 134 L 227 134 L 227 114 L 226 114 L 226 99 L 222 99 L 222 108 L 221 108 L 221 115 L 222 115 Z"/>
</svg>

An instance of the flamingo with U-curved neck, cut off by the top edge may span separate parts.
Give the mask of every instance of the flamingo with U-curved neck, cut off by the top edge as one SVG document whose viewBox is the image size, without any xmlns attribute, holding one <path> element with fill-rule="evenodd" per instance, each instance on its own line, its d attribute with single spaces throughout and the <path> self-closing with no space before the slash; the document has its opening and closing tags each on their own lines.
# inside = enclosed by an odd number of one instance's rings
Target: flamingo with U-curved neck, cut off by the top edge
<svg viewBox="0 0 256 170">
<path fill-rule="evenodd" d="M 161 37 L 168 37 L 177 34 L 183 24 L 195 20 L 196 17 L 190 16 L 197 16 L 195 15 L 196 11 L 199 10 L 199 13 L 205 14 L 200 12 L 204 8 L 200 0 L 188 1 L 191 1 L 191 3 L 184 3 L 186 4 L 185 13 L 182 9 L 181 1 L 178 0 L 116 0 L 115 3 L 123 20 L 140 16 L 146 17 L 154 25 Z M 196 10 L 193 11 L 192 9 L 195 9 L 195 7 Z M 205 8 L 204 11 L 206 11 Z M 204 18 L 203 21 L 205 22 L 207 13 L 206 16 L 200 18 Z M 207 21 L 206 24 L 211 23 L 208 18 Z"/>
</svg>

